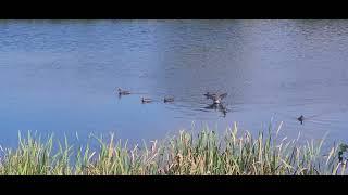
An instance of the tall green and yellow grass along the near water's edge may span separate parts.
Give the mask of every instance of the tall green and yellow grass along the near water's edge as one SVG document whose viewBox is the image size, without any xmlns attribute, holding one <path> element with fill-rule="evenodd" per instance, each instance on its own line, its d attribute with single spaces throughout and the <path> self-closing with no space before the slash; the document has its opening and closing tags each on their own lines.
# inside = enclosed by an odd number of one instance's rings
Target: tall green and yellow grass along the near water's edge
<svg viewBox="0 0 348 195">
<path fill-rule="evenodd" d="M 238 132 L 236 122 L 222 136 L 203 129 L 179 131 L 162 142 L 128 147 L 126 142 L 95 139 L 99 148 L 70 145 L 51 135 L 18 134 L 17 148 L 1 147 L 1 176 L 341 176 L 346 174 L 345 144 L 322 152 L 324 139 L 286 141 L 275 133 Z M 281 141 L 278 141 L 281 140 Z M 58 150 L 53 150 L 53 148 Z"/>
</svg>

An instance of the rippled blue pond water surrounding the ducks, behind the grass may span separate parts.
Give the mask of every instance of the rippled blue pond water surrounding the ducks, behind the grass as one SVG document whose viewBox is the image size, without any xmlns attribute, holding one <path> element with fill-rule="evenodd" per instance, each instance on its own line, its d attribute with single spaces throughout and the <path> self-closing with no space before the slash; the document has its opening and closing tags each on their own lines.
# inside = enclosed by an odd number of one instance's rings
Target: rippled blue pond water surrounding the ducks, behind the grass
<svg viewBox="0 0 348 195">
<path fill-rule="evenodd" d="M 234 121 L 347 141 L 347 51 L 348 21 L 0 21 L 0 144 L 27 130 L 139 142 Z M 227 113 L 208 91 L 228 93 Z"/>
</svg>

